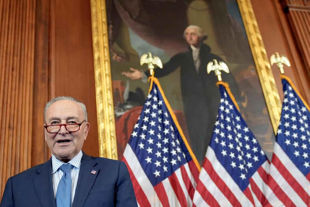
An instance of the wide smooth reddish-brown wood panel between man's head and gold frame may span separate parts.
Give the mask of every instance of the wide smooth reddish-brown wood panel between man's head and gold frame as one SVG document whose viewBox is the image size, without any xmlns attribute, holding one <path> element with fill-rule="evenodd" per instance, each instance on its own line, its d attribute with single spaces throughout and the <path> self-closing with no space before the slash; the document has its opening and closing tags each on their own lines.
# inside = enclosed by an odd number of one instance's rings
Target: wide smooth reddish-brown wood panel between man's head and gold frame
<svg viewBox="0 0 310 207">
<path fill-rule="evenodd" d="M 91 128 L 83 150 L 99 156 L 90 1 L 52 1 L 51 12 L 51 94 L 86 105 Z"/>
</svg>

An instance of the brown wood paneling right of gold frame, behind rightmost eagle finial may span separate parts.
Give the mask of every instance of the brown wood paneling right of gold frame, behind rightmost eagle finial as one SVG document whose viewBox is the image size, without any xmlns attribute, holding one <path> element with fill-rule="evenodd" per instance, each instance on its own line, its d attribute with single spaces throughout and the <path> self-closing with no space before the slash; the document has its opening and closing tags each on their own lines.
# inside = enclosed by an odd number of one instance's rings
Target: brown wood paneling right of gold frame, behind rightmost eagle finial
<svg viewBox="0 0 310 207">
<path fill-rule="evenodd" d="M 309 75 L 307 64 L 297 44 L 297 39 L 291 29 L 290 20 L 278 0 L 251 0 L 253 10 L 259 25 L 268 58 L 274 53 L 286 55 L 291 67 L 285 67 L 285 73 L 297 86 L 302 96 L 309 103 Z M 264 8 L 264 9 L 262 9 Z M 283 99 L 280 71 L 274 65 L 272 72 L 275 77 L 281 99 Z"/>
</svg>

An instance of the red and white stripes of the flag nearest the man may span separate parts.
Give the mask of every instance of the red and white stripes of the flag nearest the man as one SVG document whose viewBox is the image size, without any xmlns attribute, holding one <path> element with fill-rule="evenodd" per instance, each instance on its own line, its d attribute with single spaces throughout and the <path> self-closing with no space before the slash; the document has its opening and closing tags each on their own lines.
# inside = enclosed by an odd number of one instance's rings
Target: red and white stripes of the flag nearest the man
<svg viewBox="0 0 310 207">
<path fill-rule="evenodd" d="M 185 207 L 193 205 L 196 189 L 194 175 L 199 174 L 193 161 L 184 164 L 170 177 L 167 177 L 153 187 L 131 146 L 128 144 L 122 160 L 126 163 L 129 170 L 136 199 L 140 206 Z"/>
</svg>

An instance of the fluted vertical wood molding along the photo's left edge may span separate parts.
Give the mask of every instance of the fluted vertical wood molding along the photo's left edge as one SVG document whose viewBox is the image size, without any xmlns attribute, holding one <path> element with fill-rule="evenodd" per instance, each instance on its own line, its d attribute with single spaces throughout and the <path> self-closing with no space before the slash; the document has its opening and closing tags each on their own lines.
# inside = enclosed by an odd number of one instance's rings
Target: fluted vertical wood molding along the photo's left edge
<svg viewBox="0 0 310 207">
<path fill-rule="evenodd" d="M 0 0 L 0 192 L 31 166 L 35 0 Z"/>
</svg>

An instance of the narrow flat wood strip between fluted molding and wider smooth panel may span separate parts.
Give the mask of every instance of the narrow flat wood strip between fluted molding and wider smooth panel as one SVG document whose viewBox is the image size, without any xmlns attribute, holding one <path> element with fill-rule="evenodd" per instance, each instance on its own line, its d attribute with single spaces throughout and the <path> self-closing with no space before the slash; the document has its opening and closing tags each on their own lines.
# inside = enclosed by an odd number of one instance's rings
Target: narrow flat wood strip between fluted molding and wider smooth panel
<svg viewBox="0 0 310 207">
<path fill-rule="evenodd" d="M 31 166 L 49 159 L 44 139 L 43 111 L 50 99 L 50 1 L 36 1 L 35 61 L 33 83 L 33 136 L 31 147 Z"/>
</svg>

